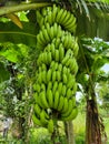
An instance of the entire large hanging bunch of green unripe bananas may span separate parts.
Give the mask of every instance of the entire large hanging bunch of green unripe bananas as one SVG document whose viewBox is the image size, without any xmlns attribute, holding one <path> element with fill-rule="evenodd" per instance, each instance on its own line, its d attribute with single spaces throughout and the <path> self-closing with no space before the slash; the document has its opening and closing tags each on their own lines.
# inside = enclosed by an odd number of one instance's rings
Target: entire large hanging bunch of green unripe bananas
<svg viewBox="0 0 109 144">
<path fill-rule="evenodd" d="M 78 114 L 75 97 L 79 50 L 73 35 L 76 18 L 56 4 L 37 11 L 37 18 L 40 25 L 37 49 L 40 53 L 33 84 L 32 120 L 52 133 L 54 121 L 71 121 Z"/>
</svg>

